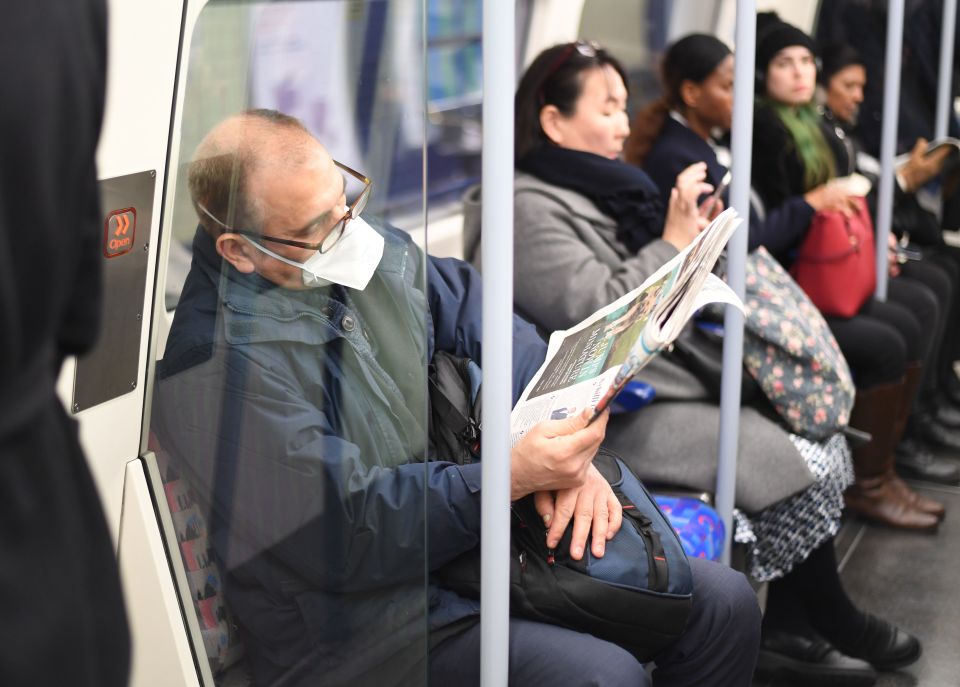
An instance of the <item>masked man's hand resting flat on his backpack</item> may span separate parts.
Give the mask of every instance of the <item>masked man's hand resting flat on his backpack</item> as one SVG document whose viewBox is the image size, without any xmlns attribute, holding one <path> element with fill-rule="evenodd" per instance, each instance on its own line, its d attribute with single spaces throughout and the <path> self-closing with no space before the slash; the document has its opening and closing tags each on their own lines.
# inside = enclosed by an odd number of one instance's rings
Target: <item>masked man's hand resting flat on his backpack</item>
<svg viewBox="0 0 960 687">
<path fill-rule="evenodd" d="M 591 463 L 583 486 L 562 489 L 556 493 L 538 491 L 533 497 L 537 512 L 547 532 L 547 546 L 555 549 L 560 543 L 570 520 L 573 520 L 573 538 L 570 541 L 570 556 L 583 558 L 587 535 L 593 532 L 591 550 L 597 558 L 603 557 L 608 540 L 613 539 L 623 523 L 623 507 L 610 484 Z"/>
</svg>

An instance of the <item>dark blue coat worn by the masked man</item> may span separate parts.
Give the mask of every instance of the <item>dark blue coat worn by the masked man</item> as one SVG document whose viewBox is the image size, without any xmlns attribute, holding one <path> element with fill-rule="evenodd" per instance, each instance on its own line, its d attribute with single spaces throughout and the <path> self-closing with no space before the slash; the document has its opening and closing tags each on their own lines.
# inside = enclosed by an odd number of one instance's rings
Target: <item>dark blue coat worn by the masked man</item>
<svg viewBox="0 0 960 687">
<path fill-rule="evenodd" d="M 198 230 L 158 364 L 153 430 L 210 507 L 258 684 L 400 684 L 428 623 L 478 612 L 424 571 L 477 546 L 480 465 L 424 458 L 426 361 L 482 360 L 480 278 L 381 233 L 364 291 L 290 291 Z M 519 319 L 513 344 L 516 400 L 546 346 Z"/>
</svg>

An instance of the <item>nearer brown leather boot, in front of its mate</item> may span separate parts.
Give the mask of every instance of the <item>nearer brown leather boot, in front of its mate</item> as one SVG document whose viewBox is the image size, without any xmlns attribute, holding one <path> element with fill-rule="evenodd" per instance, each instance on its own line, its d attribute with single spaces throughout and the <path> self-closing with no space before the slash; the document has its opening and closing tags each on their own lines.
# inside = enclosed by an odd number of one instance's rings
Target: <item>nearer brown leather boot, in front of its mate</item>
<svg viewBox="0 0 960 687">
<path fill-rule="evenodd" d="M 904 414 L 905 391 L 906 379 L 857 392 L 850 425 L 869 432 L 872 438 L 853 449 L 856 481 L 844 497 L 848 508 L 869 520 L 891 527 L 931 531 L 940 521 L 917 508 L 897 489 L 892 478 L 893 448 L 903 432 L 902 426 L 897 432 L 896 425 Z"/>
</svg>

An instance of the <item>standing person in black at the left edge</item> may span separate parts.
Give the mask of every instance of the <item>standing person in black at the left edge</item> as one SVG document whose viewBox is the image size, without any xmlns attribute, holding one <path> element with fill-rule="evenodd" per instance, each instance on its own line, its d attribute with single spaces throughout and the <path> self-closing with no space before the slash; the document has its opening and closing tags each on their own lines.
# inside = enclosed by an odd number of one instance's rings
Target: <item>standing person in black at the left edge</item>
<svg viewBox="0 0 960 687">
<path fill-rule="evenodd" d="M 95 153 L 103 0 L 15 0 L 0 22 L 0 682 L 126 683 L 117 562 L 57 398 L 100 310 Z"/>
</svg>

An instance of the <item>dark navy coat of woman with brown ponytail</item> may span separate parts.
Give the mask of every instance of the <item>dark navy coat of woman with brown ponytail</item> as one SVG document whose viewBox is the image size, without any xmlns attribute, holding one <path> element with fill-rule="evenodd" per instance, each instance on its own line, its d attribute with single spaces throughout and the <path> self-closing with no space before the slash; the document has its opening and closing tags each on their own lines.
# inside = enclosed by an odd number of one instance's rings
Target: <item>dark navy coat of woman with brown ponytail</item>
<svg viewBox="0 0 960 687">
<path fill-rule="evenodd" d="M 694 162 L 707 163 L 707 181 L 714 186 L 727 171 L 709 143 L 673 117 L 667 117 L 643 164 L 660 187 L 665 203 L 670 199 L 677 175 Z M 724 202 L 728 202 L 727 197 Z M 750 203 L 749 250 L 765 246 L 778 259 L 789 262 L 789 253 L 799 245 L 810 226 L 813 208 L 802 196 L 787 198 L 777 207 L 766 208 L 764 215 L 758 212 L 759 204 L 756 198 Z"/>
</svg>

